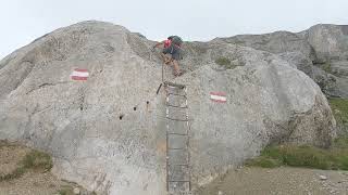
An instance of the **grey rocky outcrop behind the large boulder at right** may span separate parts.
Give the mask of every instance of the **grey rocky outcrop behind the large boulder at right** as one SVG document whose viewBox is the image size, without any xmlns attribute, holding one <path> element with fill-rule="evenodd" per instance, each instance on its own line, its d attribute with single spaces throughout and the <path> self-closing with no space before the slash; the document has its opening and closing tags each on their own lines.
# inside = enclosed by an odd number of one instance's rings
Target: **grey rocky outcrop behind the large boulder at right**
<svg viewBox="0 0 348 195">
<path fill-rule="evenodd" d="M 345 84 L 347 76 L 318 69 L 337 62 L 340 68 L 347 67 L 348 26 L 322 24 L 298 34 L 276 31 L 217 38 L 214 41 L 251 47 L 277 54 L 310 76 L 326 95 L 348 98 L 348 88 Z"/>
</svg>

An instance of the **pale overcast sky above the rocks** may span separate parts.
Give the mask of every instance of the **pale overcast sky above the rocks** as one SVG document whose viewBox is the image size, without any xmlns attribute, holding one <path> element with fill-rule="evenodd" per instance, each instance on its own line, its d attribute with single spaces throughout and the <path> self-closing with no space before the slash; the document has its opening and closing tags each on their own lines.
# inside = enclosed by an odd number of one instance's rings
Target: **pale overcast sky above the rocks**
<svg viewBox="0 0 348 195">
<path fill-rule="evenodd" d="M 348 0 L 2 0 L 0 58 L 62 26 L 98 20 L 160 40 L 300 31 L 348 24 Z"/>
</svg>

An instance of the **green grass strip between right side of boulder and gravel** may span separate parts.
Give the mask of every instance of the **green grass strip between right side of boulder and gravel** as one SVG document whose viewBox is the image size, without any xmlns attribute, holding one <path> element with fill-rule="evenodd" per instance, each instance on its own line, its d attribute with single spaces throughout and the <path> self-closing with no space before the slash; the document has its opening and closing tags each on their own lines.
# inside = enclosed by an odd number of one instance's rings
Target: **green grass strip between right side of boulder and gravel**
<svg viewBox="0 0 348 195">
<path fill-rule="evenodd" d="M 348 100 L 330 99 L 338 126 L 348 126 Z M 246 161 L 247 166 L 274 168 L 279 166 L 315 169 L 348 170 L 348 133 L 339 135 L 328 150 L 309 145 L 270 145 L 257 158 Z"/>
</svg>

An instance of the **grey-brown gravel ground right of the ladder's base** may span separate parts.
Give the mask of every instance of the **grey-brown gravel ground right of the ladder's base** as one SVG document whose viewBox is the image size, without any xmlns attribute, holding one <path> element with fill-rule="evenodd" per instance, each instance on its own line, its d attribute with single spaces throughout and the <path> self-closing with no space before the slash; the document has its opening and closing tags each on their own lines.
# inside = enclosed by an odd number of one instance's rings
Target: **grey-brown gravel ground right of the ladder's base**
<svg viewBox="0 0 348 195">
<path fill-rule="evenodd" d="M 348 171 L 281 167 L 233 170 L 197 195 L 348 195 Z"/>
</svg>

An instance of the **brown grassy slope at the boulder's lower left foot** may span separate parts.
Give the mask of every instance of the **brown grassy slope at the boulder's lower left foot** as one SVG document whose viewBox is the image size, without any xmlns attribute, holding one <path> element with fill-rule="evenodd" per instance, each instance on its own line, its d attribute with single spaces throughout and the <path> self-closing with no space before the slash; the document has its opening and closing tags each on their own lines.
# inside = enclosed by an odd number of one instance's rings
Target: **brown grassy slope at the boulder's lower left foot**
<svg viewBox="0 0 348 195">
<path fill-rule="evenodd" d="M 21 155 L 20 151 L 25 153 Z M 10 152 L 11 155 L 9 155 L 8 152 Z M 45 194 L 57 188 L 57 194 L 59 195 L 74 195 L 74 187 L 82 190 L 77 184 L 63 182 L 53 177 L 46 176 L 53 166 L 52 158 L 47 153 L 0 140 L 0 157 L 4 158 L 0 161 L 0 194 L 2 191 L 5 191 L 5 194 L 17 194 L 24 191 L 28 191 L 28 194 L 36 194 L 36 191 L 45 191 L 41 193 Z M 15 167 L 7 171 L 5 164 L 13 164 Z M 47 183 L 42 182 L 42 179 L 45 179 Z M 20 184 L 16 185 L 17 183 Z M 26 188 L 33 185 L 29 184 L 27 186 L 27 183 L 37 183 L 37 186 Z M 86 192 L 85 190 L 84 192 L 89 195 L 96 194 L 94 192 Z"/>
</svg>

